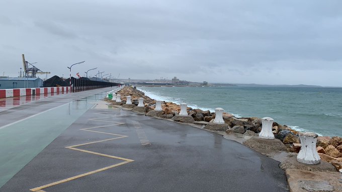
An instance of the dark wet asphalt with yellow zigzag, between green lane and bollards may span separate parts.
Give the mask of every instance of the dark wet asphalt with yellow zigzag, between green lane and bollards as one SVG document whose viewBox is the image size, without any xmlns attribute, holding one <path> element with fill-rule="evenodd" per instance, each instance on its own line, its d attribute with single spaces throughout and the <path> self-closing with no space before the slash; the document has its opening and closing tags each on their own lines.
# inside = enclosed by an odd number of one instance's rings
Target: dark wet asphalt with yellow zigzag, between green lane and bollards
<svg viewBox="0 0 342 192">
<path fill-rule="evenodd" d="M 215 133 L 94 108 L 0 191 L 288 191 L 278 164 Z"/>
</svg>

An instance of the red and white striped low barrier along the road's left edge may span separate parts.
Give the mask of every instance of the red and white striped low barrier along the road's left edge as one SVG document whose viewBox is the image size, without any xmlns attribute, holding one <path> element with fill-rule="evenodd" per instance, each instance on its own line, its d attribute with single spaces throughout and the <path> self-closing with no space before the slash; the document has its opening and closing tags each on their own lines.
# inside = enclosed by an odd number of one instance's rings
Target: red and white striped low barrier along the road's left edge
<svg viewBox="0 0 342 192">
<path fill-rule="evenodd" d="M 35 90 L 35 91 L 33 91 Z M 57 95 L 60 93 L 69 93 L 70 87 L 44 87 L 44 88 L 23 88 L 23 89 L 0 89 L 0 98 L 8 98 L 8 97 L 19 97 L 19 96 L 29 96 L 32 94 L 47 95 L 50 93 Z"/>
</svg>

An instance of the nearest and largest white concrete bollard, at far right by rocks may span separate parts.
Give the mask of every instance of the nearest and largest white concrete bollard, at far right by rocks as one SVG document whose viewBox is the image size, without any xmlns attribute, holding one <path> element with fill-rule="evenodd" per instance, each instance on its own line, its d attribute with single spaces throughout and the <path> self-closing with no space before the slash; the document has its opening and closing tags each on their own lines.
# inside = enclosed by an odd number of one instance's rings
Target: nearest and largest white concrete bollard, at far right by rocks
<svg viewBox="0 0 342 192">
<path fill-rule="evenodd" d="M 316 150 L 318 135 L 316 133 L 299 133 L 299 139 L 302 147 L 297 155 L 297 161 L 305 164 L 320 163 L 320 156 Z"/>
</svg>

